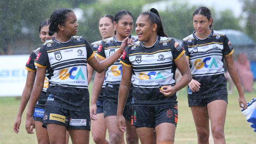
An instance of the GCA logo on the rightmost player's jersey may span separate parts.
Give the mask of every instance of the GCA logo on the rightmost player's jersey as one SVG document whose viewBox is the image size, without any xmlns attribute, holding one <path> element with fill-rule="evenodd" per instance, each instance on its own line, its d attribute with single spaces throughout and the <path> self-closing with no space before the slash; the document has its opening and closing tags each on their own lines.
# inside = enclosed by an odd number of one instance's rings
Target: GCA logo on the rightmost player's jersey
<svg viewBox="0 0 256 144">
<path fill-rule="evenodd" d="M 195 68 L 200 69 L 200 68 L 211 68 L 213 65 L 215 68 L 218 67 L 217 62 L 214 57 L 206 57 L 203 61 L 202 59 L 197 59 L 194 62 Z"/>
</svg>

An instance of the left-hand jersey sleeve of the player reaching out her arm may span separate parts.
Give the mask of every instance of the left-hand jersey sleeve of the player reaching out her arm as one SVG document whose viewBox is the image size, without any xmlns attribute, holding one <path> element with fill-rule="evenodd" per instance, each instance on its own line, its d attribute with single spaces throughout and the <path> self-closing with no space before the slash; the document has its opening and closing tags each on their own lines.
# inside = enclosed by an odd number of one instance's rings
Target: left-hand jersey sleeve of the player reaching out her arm
<svg viewBox="0 0 256 144">
<path fill-rule="evenodd" d="M 35 61 L 35 65 L 40 67 L 40 68 L 47 68 L 48 65 L 50 65 L 49 63 L 49 57 L 48 54 L 46 52 L 45 49 L 45 45 L 43 45 L 36 57 L 36 61 Z"/>
</svg>

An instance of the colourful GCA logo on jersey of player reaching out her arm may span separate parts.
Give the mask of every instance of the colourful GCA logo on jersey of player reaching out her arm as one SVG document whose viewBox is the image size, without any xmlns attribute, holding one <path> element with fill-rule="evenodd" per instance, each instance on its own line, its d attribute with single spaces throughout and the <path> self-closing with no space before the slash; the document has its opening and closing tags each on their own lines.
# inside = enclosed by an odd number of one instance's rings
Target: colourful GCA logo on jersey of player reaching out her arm
<svg viewBox="0 0 256 144">
<path fill-rule="evenodd" d="M 59 72 L 59 79 L 65 80 L 67 78 L 70 79 L 85 79 L 85 76 L 83 74 L 83 71 L 81 68 L 78 67 L 73 67 L 70 70 L 68 69 L 63 69 Z"/>
</svg>

